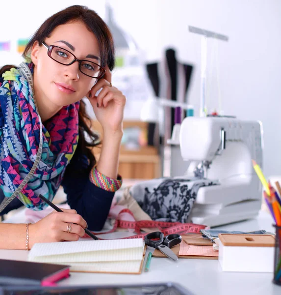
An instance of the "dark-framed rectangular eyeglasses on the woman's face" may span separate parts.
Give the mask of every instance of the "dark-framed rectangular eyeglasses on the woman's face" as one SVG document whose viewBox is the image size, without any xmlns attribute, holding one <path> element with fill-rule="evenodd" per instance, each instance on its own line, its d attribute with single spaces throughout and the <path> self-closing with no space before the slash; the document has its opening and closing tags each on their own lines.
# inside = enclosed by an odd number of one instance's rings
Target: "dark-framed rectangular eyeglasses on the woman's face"
<svg viewBox="0 0 281 295">
<path fill-rule="evenodd" d="M 88 77 L 100 79 L 105 74 L 105 69 L 95 62 L 77 59 L 73 53 L 64 48 L 55 45 L 49 46 L 45 42 L 42 42 L 42 44 L 48 49 L 48 56 L 60 64 L 71 65 L 78 61 L 79 70 Z"/>
</svg>

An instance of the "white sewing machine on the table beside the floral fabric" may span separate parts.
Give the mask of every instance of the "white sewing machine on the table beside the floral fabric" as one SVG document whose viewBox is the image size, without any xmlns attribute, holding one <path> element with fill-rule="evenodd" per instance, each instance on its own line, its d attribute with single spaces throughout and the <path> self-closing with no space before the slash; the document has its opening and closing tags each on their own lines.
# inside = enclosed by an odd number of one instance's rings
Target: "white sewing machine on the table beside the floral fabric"
<svg viewBox="0 0 281 295">
<path fill-rule="evenodd" d="M 181 123 L 179 145 L 183 160 L 192 161 L 187 176 L 220 183 L 199 189 L 189 221 L 218 226 L 258 214 L 262 186 L 252 159 L 262 168 L 260 122 L 187 117 Z"/>
</svg>

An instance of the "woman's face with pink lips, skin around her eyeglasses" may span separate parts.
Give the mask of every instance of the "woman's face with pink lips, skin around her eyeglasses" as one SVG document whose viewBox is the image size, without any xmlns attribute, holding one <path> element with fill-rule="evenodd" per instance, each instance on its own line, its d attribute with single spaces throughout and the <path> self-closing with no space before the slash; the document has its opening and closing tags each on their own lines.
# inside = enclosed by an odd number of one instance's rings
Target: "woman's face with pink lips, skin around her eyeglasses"
<svg viewBox="0 0 281 295">
<path fill-rule="evenodd" d="M 82 22 L 60 25 L 44 41 L 48 46 L 56 45 L 70 51 L 77 59 L 101 64 L 98 40 Z M 97 79 L 81 73 L 77 61 L 68 66 L 63 65 L 51 59 L 47 53 L 48 49 L 38 42 L 32 47 L 37 99 L 45 99 L 45 105 L 53 109 L 72 104 L 86 96 Z"/>
</svg>

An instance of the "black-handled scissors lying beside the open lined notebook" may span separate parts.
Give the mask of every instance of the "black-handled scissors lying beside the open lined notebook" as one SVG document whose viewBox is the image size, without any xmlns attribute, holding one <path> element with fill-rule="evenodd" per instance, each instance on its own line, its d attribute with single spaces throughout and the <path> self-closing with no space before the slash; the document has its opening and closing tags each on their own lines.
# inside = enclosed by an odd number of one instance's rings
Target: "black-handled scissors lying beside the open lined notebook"
<svg viewBox="0 0 281 295">
<path fill-rule="evenodd" d="M 181 236 L 179 234 L 168 235 L 164 239 L 163 233 L 153 232 L 146 235 L 144 241 L 148 246 L 159 249 L 168 258 L 175 261 L 178 260 L 178 256 L 170 248 L 181 242 Z"/>
</svg>

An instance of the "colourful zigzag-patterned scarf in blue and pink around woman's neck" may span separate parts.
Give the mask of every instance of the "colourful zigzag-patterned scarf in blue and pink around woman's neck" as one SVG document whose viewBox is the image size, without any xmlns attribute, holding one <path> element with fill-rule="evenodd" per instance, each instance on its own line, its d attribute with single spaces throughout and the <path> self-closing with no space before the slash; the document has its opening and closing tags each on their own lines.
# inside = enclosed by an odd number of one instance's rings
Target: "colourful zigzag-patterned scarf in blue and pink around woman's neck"
<svg viewBox="0 0 281 295">
<path fill-rule="evenodd" d="M 27 64 L 33 74 L 33 63 Z M 28 208 L 42 210 L 52 200 L 66 166 L 77 148 L 79 102 L 63 107 L 43 130 L 42 157 L 18 199 Z M 30 171 L 40 142 L 40 121 L 31 85 L 19 69 L 0 78 L 0 189 L 9 198 Z"/>
</svg>

